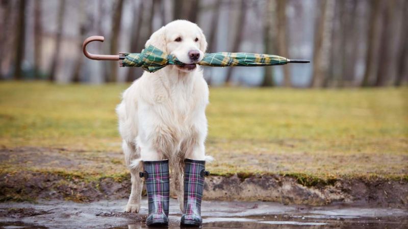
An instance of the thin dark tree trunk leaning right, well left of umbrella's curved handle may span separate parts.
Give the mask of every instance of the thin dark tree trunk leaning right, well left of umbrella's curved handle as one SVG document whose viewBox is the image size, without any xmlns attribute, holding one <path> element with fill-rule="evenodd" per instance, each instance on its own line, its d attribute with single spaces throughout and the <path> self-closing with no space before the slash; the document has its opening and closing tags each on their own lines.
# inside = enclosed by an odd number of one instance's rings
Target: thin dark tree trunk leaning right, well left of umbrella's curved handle
<svg viewBox="0 0 408 229">
<path fill-rule="evenodd" d="M 59 64 L 59 55 L 61 49 L 61 39 L 63 33 L 64 24 L 64 11 L 65 11 L 65 0 L 60 1 L 60 7 L 57 15 L 57 36 L 54 47 L 53 62 L 51 63 L 51 69 L 49 70 L 49 80 L 55 81 L 55 74 L 57 73 L 57 66 Z"/>
</svg>

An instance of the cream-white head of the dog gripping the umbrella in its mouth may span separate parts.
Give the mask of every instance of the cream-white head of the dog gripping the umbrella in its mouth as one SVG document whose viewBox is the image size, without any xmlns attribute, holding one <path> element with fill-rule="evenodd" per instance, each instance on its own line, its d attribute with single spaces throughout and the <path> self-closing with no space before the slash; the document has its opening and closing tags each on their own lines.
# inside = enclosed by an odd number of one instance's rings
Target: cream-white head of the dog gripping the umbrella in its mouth
<svg viewBox="0 0 408 229">
<path fill-rule="evenodd" d="M 145 47 L 153 45 L 175 55 L 185 65 L 176 68 L 184 72 L 193 71 L 207 49 L 206 37 L 200 27 L 186 20 L 175 20 L 161 27 L 150 36 Z"/>
</svg>

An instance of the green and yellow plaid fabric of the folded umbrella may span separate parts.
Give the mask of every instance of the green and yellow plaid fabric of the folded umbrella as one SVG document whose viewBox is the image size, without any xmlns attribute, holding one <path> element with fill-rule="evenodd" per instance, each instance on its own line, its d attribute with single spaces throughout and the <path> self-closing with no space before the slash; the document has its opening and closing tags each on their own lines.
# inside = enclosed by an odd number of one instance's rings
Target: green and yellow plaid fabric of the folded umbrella
<svg viewBox="0 0 408 229">
<path fill-rule="evenodd" d="M 184 65 L 174 55 L 167 54 L 155 46 L 149 45 L 141 53 L 121 53 L 122 67 L 142 67 L 148 72 L 155 72 L 167 65 Z M 288 59 L 278 55 L 245 53 L 245 52 L 217 52 L 206 53 L 198 65 L 212 67 L 228 66 L 268 66 L 284 65 Z"/>
</svg>

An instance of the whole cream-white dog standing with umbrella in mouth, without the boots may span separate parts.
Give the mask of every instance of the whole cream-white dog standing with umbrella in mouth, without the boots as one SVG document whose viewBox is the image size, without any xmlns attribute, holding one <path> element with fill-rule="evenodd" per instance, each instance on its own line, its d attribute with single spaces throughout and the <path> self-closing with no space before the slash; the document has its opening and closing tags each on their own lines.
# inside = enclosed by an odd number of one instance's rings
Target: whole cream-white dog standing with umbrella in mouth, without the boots
<svg viewBox="0 0 408 229">
<path fill-rule="evenodd" d="M 206 106 L 209 90 L 202 70 L 207 41 L 201 29 L 186 20 L 176 20 L 151 35 L 153 45 L 185 63 L 157 72 L 144 72 L 123 93 L 117 106 L 119 132 L 126 165 L 132 176 L 132 191 L 126 212 L 139 212 L 143 180 L 140 161 L 169 159 L 171 178 L 183 211 L 182 169 L 185 158 L 211 160 L 205 155 Z"/>
</svg>

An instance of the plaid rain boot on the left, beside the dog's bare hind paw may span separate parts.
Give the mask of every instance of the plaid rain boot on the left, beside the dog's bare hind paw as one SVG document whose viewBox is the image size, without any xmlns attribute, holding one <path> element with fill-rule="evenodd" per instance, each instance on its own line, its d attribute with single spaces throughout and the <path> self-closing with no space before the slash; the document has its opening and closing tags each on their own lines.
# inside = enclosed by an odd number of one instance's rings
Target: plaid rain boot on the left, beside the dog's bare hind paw
<svg viewBox="0 0 408 229">
<path fill-rule="evenodd" d="M 169 160 L 143 161 L 144 177 L 149 205 L 147 226 L 168 225 L 169 215 Z"/>
</svg>

